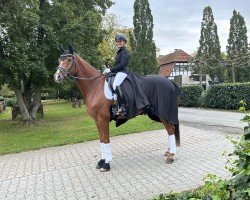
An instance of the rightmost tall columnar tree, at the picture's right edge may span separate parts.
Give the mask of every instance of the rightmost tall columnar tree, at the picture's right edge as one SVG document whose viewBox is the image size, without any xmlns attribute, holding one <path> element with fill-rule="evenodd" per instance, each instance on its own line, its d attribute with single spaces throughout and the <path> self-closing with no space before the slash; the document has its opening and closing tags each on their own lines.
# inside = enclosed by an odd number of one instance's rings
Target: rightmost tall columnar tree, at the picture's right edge
<svg viewBox="0 0 250 200">
<path fill-rule="evenodd" d="M 248 51 L 247 27 L 244 18 L 236 10 L 230 20 L 227 45 L 228 76 L 233 82 L 250 81 L 250 54 Z"/>
</svg>

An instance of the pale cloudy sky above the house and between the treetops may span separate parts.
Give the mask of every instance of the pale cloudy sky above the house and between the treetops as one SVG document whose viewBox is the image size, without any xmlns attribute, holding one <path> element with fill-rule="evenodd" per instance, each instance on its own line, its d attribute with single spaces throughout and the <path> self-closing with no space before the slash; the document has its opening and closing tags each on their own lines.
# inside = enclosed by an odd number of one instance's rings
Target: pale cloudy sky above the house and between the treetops
<svg viewBox="0 0 250 200">
<path fill-rule="evenodd" d="M 133 28 L 134 0 L 114 0 L 108 13 L 115 14 L 118 23 Z M 233 10 L 244 17 L 250 42 L 250 0 L 149 0 L 154 19 L 154 41 L 160 55 L 174 49 L 192 54 L 199 47 L 203 9 L 210 6 L 217 24 L 221 51 L 226 51 L 230 19 Z"/>
</svg>

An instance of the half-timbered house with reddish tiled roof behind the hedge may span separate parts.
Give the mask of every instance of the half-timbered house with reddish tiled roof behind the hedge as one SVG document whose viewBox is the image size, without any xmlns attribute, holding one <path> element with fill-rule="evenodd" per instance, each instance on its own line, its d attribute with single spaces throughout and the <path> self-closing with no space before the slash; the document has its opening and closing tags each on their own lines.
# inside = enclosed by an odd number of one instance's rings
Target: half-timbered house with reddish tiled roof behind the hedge
<svg viewBox="0 0 250 200">
<path fill-rule="evenodd" d="M 174 79 L 175 76 L 191 75 L 193 72 L 193 57 L 181 49 L 175 49 L 173 53 L 159 56 L 159 75 Z"/>
</svg>

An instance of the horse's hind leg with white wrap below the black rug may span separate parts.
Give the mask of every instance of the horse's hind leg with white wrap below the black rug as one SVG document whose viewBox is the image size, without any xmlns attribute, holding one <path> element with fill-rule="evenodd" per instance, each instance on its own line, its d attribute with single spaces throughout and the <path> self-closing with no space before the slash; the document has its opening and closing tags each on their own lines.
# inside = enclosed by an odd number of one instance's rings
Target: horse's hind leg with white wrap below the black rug
<svg viewBox="0 0 250 200">
<path fill-rule="evenodd" d="M 180 146 L 179 123 L 172 124 L 164 119 L 160 119 L 165 129 L 168 132 L 168 150 L 165 153 L 167 156 L 166 163 L 171 164 L 174 162 L 174 155 L 176 154 L 176 146 Z"/>
</svg>

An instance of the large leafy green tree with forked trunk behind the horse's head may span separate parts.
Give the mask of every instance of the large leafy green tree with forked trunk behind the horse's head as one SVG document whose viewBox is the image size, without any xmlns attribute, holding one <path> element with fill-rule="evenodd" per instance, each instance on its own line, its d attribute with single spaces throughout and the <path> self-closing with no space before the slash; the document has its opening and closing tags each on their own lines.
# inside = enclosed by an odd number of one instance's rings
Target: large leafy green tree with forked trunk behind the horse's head
<svg viewBox="0 0 250 200">
<path fill-rule="evenodd" d="M 0 1 L 0 80 L 15 92 L 24 121 L 33 121 L 43 86 L 53 81 L 59 44 L 71 43 L 100 63 L 100 21 L 112 1 Z"/>
</svg>

